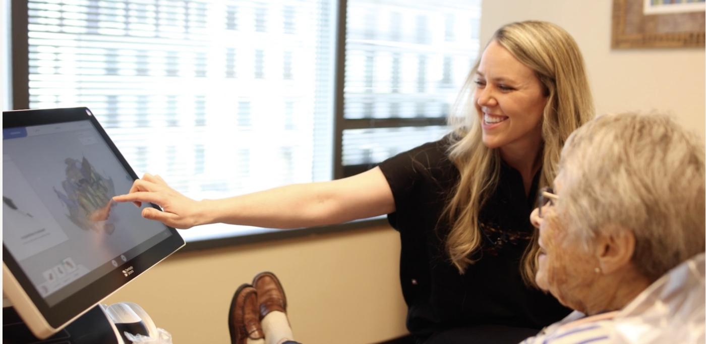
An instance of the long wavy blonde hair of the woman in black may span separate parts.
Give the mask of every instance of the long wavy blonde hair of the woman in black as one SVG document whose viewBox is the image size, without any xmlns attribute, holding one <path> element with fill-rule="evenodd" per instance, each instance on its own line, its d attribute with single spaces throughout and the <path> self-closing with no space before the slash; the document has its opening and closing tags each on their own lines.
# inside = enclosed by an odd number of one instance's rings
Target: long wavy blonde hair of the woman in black
<svg viewBox="0 0 706 344">
<path fill-rule="evenodd" d="M 534 20 L 504 25 L 493 34 L 490 42 L 497 42 L 530 67 L 542 83 L 546 106 L 542 115 L 539 184 L 549 185 L 556 174 L 564 141 L 594 113 L 581 52 L 568 32 L 552 23 Z M 445 208 L 445 214 L 453 223 L 445 245 L 460 273 L 474 263 L 472 255 L 481 247 L 478 216 L 496 189 L 501 165 L 498 150 L 487 148 L 482 142 L 479 117 L 472 104 L 473 80 L 479 63 L 470 71 L 450 117 L 455 129 L 448 154 L 460 172 L 460 179 Z M 522 276 L 530 284 L 534 284 L 535 241 L 522 259 Z"/>
</svg>

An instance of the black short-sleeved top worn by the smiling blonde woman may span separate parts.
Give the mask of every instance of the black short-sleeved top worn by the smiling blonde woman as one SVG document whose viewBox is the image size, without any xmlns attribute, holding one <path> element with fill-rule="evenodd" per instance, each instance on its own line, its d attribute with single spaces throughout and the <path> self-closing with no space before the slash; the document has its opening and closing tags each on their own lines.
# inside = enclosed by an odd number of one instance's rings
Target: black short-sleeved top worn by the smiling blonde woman
<svg viewBox="0 0 706 344">
<path fill-rule="evenodd" d="M 407 302 L 407 328 L 418 338 L 451 328 L 495 324 L 542 328 L 570 309 L 527 286 L 520 260 L 532 231 L 539 173 L 532 194 L 505 163 L 494 194 L 479 213 L 483 242 L 477 263 L 460 274 L 445 253 L 450 222 L 443 217 L 459 179 L 446 153 L 448 137 L 395 155 L 379 165 L 395 198 L 388 220 L 402 240 L 400 282 Z"/>
</svg>

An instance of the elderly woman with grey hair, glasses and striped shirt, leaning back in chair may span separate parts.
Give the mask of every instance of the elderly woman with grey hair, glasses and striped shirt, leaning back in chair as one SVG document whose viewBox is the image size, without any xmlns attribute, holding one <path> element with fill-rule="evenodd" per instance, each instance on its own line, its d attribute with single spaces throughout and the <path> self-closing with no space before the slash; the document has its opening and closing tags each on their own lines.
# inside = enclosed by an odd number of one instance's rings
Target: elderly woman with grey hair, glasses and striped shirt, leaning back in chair
<svg viewBox="0 0 706 344">
<path fill-rule="evenodd" d="M 568 138 L 531 219 L 537 285 L 575 312 L 526 343 L 703 343 L 703 146 L 658 115 L 598 117 Z"/>
</svg>

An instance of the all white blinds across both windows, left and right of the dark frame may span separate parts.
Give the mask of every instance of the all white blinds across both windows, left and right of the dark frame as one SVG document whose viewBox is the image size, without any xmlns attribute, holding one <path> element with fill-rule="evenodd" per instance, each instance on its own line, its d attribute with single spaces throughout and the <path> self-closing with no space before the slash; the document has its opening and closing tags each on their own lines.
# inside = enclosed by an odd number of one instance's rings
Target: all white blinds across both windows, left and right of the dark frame
<svg viewBox="0 0 706 344">
<path fill-rule="evenodd" d="M 448 131 L 438 120 L 477 58 L 479 16 L 479 0 L 30 0 L 29 105 L 89 107 L 138 174 L 192 198 L 327 180 L 334 155 L 371 166 Z"/>
</svg>

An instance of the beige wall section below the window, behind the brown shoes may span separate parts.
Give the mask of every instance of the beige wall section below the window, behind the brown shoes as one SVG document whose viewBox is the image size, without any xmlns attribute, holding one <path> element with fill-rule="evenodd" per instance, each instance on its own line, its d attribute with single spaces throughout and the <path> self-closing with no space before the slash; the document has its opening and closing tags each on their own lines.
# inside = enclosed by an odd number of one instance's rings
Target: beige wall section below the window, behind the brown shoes
<svg viewBox="0 0 706 344">
<path fill-rule="evenodd" d="M 400 239 L 389 227 L 169 257 L 104 303 L 136 302 L 174 343 L 229 343 L 228 307 L 241 283 L 273 271 L 303 343 L 375 343 L 406 333 L 397 279 Z"/>
</svg>

